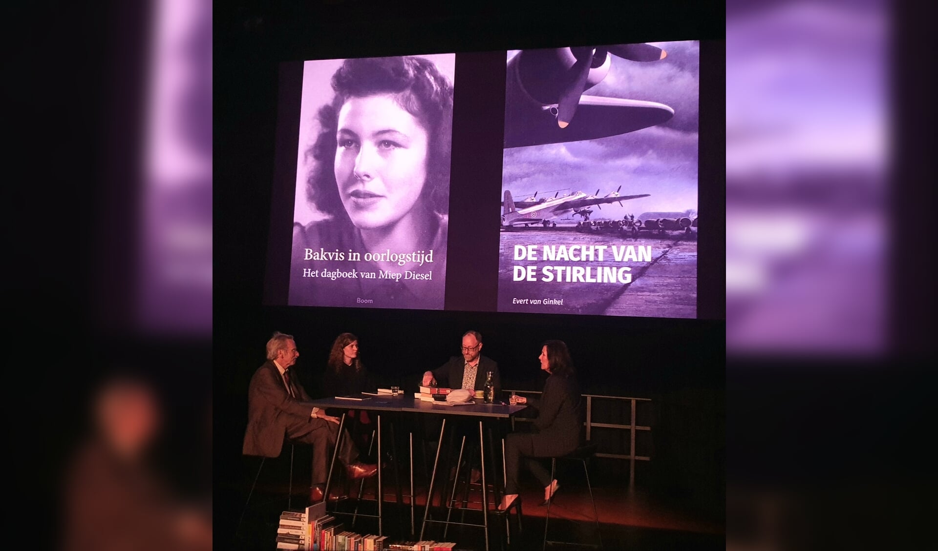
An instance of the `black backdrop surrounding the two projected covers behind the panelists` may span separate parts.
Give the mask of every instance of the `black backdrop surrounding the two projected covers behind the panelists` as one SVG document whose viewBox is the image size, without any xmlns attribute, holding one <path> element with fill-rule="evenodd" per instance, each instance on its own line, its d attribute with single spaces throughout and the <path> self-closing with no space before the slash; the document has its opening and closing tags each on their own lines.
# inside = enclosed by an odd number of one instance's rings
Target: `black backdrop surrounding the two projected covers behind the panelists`
<svg viewBox="0 0 938 551">
<path fill-rule="evenodd" d="M 537 355 L 545 339 L 565 340 L 584 393 L 654 399 L 652 469 L 642 483 L 690 497 L 713 514 L 724 510 L 724 45 L 722 6 L 662 9 L 591 4 L 560 9 L 414 6 L 345 1 L 308 5 L 299 11 L 216 7 L 214 70 L 214 372 L 215 472 L 237 476 L 247 421 L 250 376 L 265 360 L 274 331 L 295 335 L 300 379 L 311 395 L 332 341 L 342 332 L 360 339 L 364 364 L 382 384 L 416 390 L 419 374 L 459 354 L 461 335 L 482 333 L 482 353 L 497 361 L 506 388 L 539 389 Z M 702 319 L 664 320 L 480 312 L 479 297 L 495 295 L 479 274 L 497 269 L 497 248 L 472 243 L 497 240 L 485 220 L 501 184 L 502 74 L 486 74 L 486 60 L 503 67 L 505 50 L 663 40 L 701 40 L 701 136 L 698 311 Z M 490 80 L 491 94 L 456 101 L 477 102 L 481 116 L 454 115 L 454 150 L 476 148 L 477 162 L 453 167 L 451 228 L 480 231 L 477 240 L 449 251 L 446 311 L 345 309 L 263 305 L 265 268 L 289 249 L 289 237 L 271 237 L 275 182 L 293 180 L 278 155 L 295 167 L 295 145 L 278 151 L 295 125 L 296 96 L 281 90 L 281 62 L 356 56 L 477 52 L 460 55 L 461 84 Z M 476 86 L 474 86 L 476 88 Z M 295 98 L 294 98 L 295 101 Z M 492 109 L 489 102 L 497 102 Z M 462 117 L 462 118 L 460 118 Z M 288 129 L 278 127 L 278 119 Z M 280 130 L 280 131 L 279 131 Z M 285 133 L 284 133 L 285 132 Z M 295 138 L 293 138 L 295 143 Z M 492 145 L 494 144 L 494 146 Z M 464 150 L 464 149 L 463 149 Z M 455 158 L 455 156 L 454 156 Z M 471 159 L 471 156 L 464 158 Z M 282 161 L 282 157 L 280 158 Z M 295 171 L 295 168 L 293 169 Z M 493 197 L 477 197 L 471 184 L 491 181 Z M 280 188 L 284 192 L 286 186 Z M 492 201 L 489 201 L 492 199 Z M 278 212 L 278 216 L 289 213 Z M 707 222 L 703 222 L 703 220 Z M 707 225 L 708 224 L 708 225 Z M 282 230 L 283 225 L 274 227 Z M 494 232 L 487 235 L 486 232 Z M 451 231 L 451 234 L 453 231 Z M 272 243 L 273 245 L 268 244 Z M 283 255 L 282 258 L 287 258 Z M 282 269 L 282 268 L 281 268 Z M 269 281 L 269 280 L 268 280 Z M 495 282 L 492 281 L 494 286 Z M 272 287 L 276 296 L 276 285 Z M 271 295 L 266 295 L 268 298 Z M 474 311 L 476 310 L 476 311 Z M 624 463 L 624 462 L 616 462 Z M 657 470 L 656 470 L 657 469 Z M 627 477 L 628 478 L 628 477 Z M 216 503 L 216 514 L 223 504 Z"/>
</svg>

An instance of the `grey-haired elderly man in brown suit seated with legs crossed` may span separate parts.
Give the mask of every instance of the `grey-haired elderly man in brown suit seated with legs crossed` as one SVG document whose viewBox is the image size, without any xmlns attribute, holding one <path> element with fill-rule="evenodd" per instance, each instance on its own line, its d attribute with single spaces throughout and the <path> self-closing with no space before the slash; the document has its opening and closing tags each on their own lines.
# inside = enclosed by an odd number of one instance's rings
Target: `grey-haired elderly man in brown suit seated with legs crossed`
<svg viewBox="0 0 938 551">
<path fill-rule="evenodd" d="M 274 333 L 267 341 L 267 361 L 250 379 L 248 391 L 248 428 L 242 453 L 277 457 L 283 439 L 312 444 L 312 486 L 310 502 L 325 498 L 323 484 L 328 475 L 329 449 L 339 436 L 339 419 L 312 408 L 310 395 L 292 374 L 299 352 L 293 335 Z M 342 439 L 339 459 L 350 479 L 374 476 L 377 466 L 357 461 L 358 452 L 351 438 Z"/>
</svg>

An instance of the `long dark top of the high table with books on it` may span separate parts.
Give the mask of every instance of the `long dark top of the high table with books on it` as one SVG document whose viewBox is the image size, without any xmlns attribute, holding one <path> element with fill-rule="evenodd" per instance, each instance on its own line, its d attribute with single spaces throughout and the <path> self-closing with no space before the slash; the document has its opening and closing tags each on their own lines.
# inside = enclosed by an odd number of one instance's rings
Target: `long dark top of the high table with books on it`
<svg viewBox="0 0 938 551">
<path fill-rule="evenodd" d="M 339 408 L 344 410 L 376 410 L 376 411 L 414 411 L 416 413 L 438 413 L 449 415 L 470 415 L 475 417 L 511 417 L 515 413 L 527 408 L 526 405 L 507 406 L 502 404 L 486 404 L 476 399 L 475 404 L 464 406 L 446 406 L 442 403 L 428 402 L 413 395 L 362 395 L 363 400 L 349 400 L 337 397 L 313 398 L 309 402 L 310 408 Z"/>
</svg>

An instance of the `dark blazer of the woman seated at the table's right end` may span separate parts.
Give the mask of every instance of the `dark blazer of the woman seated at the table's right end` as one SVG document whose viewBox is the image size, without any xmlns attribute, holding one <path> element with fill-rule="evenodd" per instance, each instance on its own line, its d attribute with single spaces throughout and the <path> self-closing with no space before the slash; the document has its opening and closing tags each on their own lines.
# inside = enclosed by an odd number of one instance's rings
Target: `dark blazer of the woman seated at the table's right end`
<svg viewBox="0 0 938 551">
<path fill-rule="evenodd" d="M 529 398 L 528 403 L 537 408 L 535 456 L 566 455 L 580 446 L 583 408 L 576 379 L 552 375 L 544 382 L 540 399 Z"/>
</svg>

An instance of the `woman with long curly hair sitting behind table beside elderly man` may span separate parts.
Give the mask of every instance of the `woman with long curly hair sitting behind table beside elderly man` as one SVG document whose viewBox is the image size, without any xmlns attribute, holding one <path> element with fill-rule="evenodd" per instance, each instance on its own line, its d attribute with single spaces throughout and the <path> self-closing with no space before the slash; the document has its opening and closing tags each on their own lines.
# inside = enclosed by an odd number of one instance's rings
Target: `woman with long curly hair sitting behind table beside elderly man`
<svg viewBox="0 0 938 551">
<path fill-rule="evenodd" d="M 358 355 L 358 337 L 343 333 L 336 337 L 329 350 L 328 365 L 323 376 L 325 396 L 356 395 L 362 392 L 374 392 L 371 376 L 361 363 Z M 329 415 L 340 416 L 345 410 L 327 410 Z M 367 411 L 348 410 L 349 434 L 355 439 L 358 451 L 368 453 L 368 439 L 371 435 L 371 418 Z"/>
</svg>

